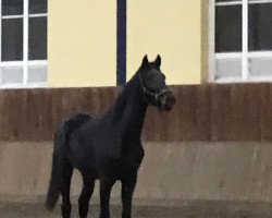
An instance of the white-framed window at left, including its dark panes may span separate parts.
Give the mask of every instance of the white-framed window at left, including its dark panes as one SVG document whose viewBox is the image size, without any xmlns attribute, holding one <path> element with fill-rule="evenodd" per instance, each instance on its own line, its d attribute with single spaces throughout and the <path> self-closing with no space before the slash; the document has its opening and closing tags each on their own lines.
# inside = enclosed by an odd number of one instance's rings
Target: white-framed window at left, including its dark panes
<svg viewBox="0 0 272 218">
<path fill-rule="evenodd" d="M 0 88 L 47 86 L 47 0 L 0 0 Z"/>
</svg>

